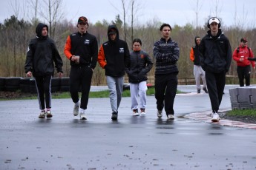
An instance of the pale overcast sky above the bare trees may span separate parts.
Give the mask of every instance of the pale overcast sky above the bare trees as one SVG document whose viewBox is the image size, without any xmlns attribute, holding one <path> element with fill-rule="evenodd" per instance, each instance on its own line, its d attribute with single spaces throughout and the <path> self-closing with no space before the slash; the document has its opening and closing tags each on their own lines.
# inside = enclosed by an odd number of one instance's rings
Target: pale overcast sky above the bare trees
<svg viewBox="0 0 256 170">
<path fill-rule="evenodd" d="M 14 4 L 20 5 L 19 16 L 27 18 L 27 2 L 31 0 L 1 0 L 0 22 L 14 14 Z M 42 0 L 40 0 L 42 1 Z M 125 2 L 128 3 L 129 0 Z M 145 24 L 146 21 L 165 22 L 171 25 L 184 26 L 187 23 L 196 25 L 197 0 L 135 0 L 140 6 L 137 12 L 137 23 Z M 203 26 L 209 16 L 217 16 L 222 24 L 231 26 L 243 24 L 243 28 L 255 27 L 256 2 L 255 0 L 198 0 L 198 24 Z M 76 24 L 79 16 L 86 16 L 91 23 L 96 21 L 112 21 L 120 14 L 122 18 L 121 0 L 63 0 L 62 12 L 65 18 Z M 12 7 L 13 4 L 13 7 Z M 26 5 L 24 5 L 26 4 Z M 217 8 L 216 8 L 217 7 Z M 22 10 L 25 9 L 25 10 Z M 217 9 L 217 10 L 216 10 Z M 25 15 L 24 12 L 26 11 Z M 30 12 L 31 13 L 31 12 Z"/>
</svg>

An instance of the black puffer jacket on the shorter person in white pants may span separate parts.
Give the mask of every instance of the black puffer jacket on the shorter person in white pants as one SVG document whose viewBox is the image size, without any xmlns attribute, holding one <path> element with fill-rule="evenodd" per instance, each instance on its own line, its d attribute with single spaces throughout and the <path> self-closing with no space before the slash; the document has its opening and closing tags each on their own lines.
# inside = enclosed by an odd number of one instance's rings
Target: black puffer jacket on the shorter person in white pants
<svg viewBox="0 0 256 170">
<path fill-rule="evenodd" d="M 147 73 L 153 67 L 153 62 L 148 54 L 142 50 L 132 51 L 131 65 L 125 69 L 128 75 L 130 83 L 140 83 L 141 81 L 147 81 Z"/>
</svg>

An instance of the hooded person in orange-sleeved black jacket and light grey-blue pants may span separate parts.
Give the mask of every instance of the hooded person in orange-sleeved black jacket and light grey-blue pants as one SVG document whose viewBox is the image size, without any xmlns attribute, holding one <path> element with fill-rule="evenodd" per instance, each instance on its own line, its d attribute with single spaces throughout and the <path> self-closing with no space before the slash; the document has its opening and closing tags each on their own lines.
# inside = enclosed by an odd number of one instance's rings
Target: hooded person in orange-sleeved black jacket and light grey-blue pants
<svg viewBox="0 0 256 170">
<path fill-rule="evenodd" d="M 98 62 L 105 69 L 109 98 L 111 101 L 112 120 L 117 120 L 118 108 L 122 99 L 125 67 L 130 64 L 130 52 L 125 41 L 119 39 L 116 25 L 108 26 L 108 41 L 99 49 Z"/>
</svg>

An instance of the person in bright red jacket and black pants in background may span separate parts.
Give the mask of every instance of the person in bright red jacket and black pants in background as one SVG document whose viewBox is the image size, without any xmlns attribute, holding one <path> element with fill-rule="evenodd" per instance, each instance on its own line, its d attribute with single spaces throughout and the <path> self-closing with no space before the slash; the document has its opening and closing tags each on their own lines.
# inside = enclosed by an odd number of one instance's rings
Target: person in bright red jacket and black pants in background
<svg viewBox="0 0 256 170">
<path fill-rule="evenodd" d="M 255 69 L 255 61 L 253 60 L 252 49 L 247 46 L 247 39 L 241 38 L 240 46 L 233 52 L 233 59 L 237 62 L 237 75 L 239 78 L 239 85 L 244 86 L 244 80 L 246 80 L 246 86 L 250 86 L 251 67 Z"/>
</svg>

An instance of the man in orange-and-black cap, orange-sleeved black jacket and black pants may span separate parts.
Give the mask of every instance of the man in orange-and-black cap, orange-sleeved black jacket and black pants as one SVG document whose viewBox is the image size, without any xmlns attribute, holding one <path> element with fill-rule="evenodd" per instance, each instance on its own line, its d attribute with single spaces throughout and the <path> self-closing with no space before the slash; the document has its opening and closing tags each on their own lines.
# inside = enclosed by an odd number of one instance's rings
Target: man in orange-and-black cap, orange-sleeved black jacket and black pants
<svg viewBox="0 0 256 170">
<path fill-rule="evenodd" d="M 86 120 L 89 92 L 93 69 L 96 67 L 98 43 L 96 37 L 88 33 L 88 19 L 81 16 L 77 23 L 78 32 L 68 35 L 64 53 L 70 60 L 70 95 L 75 106 L 73 115 L 80 115 L 80 119 Z M 79 102 L 79 89 L 81 87 L 81 105 Z M 79 113 L 80 106 L 80 113 Z"/>
</svg>

